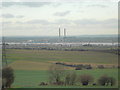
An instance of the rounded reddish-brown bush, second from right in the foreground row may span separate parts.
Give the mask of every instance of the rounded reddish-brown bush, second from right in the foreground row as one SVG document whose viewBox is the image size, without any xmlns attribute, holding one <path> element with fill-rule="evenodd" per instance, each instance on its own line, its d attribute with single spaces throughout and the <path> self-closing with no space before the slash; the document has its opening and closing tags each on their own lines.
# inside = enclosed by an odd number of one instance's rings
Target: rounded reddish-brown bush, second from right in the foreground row
<svg viewBox="0 0 120 90">
<path fill-rule="evenodd" d="M 94 81 L 94 78 L 91 75 L 81 75 L 78 79 L 82 85 L 88 85 Z"/>
</svg>

